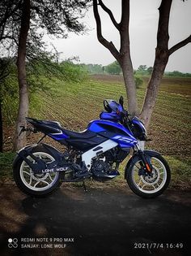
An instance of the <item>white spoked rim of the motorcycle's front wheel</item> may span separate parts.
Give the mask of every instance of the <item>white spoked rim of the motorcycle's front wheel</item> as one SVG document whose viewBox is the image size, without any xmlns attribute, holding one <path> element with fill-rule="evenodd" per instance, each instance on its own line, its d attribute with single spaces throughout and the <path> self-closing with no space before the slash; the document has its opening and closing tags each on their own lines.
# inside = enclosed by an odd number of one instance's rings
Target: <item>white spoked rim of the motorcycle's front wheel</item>
<svg viewBox="0 0 191 256">
<path fill-rule="evenodd" d="M 155 161 L 155 163 L 154 163 Z M 139 160 L 134 164 L 132 171 L 133 182 L 139 191 L 142 193 L 157 193 L 160 189 L 163 188 L 164 184 L 167 181 L 167 170 L 164 167 L 163 163 L 158 158 L 151 158 L 151 163 L 155 169 L 154 176 L 152 178 L 148 176 L 138 176 L 138 163 Z"/>
</svg>

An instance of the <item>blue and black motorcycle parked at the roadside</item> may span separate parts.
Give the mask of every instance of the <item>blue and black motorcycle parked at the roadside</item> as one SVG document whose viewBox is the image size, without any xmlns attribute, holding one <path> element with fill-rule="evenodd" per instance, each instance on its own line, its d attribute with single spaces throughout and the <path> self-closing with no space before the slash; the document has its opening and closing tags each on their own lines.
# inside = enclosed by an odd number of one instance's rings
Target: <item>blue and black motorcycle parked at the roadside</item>
<svg viewBox="0 0 191 256">
<path fill-rule="evenodd" d="M 15 183 L 23 193 L 40 197 L 52 193 L 62 182 L 111 180 L 120 175 L 120 163 L 130 154 L 125 167 L 125 180 L 140 197 L 153 198 L 168 188 L 171 172 L 161 154 L 141 150 L 146 141 L 146 129 L 136 116 L 129 115 L 119 103 L 104 100 L 105 111 L 92 120 L 83 132 L 73 132 L 58 122 L 26 118 L 32 127 L 21 132 L 42 132 L 37 144 L 19 150 L 13 163 Z M 60 152 L 42 143 L 51 137 L 65 145 Z"/>
</svg>

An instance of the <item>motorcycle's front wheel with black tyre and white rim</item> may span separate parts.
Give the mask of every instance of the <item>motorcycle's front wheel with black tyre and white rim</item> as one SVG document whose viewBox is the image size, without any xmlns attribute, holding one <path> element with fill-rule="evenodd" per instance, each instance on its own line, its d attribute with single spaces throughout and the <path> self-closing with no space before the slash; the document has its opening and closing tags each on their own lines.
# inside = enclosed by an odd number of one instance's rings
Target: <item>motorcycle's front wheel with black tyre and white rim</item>
<svg viewBox="0 0 191 256">
<path fill-rule="evenodd" d="M 158 153 L 149 155 L 151 158 L 151 175 L 143 173 L 142 160 L 134 159 L 127 171 L 126 180 L 129 188 L 140 197 L 158 197 L 165 189 L 171 179 L 171 171 L 167 161 Z"/>
</svg>

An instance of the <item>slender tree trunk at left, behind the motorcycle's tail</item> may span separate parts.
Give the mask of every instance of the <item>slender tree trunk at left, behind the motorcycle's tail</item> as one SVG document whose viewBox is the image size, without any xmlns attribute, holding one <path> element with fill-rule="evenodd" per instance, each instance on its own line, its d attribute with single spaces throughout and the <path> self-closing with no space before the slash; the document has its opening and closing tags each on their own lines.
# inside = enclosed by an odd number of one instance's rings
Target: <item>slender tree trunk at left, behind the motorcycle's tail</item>
<svg viewBox="0 0 191 256">
<path fill-rule="evenodd" d="M 23 1 L 22 18 L 19 33 L 18 46 L 18 80 L 19 80 L 19 111 L 16 120 L 14 150 L 20 150 L 26 145 L 26 133 L 19 136 L 20 126 L 26 126 L 25 117 L 28 115 L 28 84 L 26 72 L 26 44 L 28 38 L 28 29 L 30 24 L 30 0 Z"/>
</svg>

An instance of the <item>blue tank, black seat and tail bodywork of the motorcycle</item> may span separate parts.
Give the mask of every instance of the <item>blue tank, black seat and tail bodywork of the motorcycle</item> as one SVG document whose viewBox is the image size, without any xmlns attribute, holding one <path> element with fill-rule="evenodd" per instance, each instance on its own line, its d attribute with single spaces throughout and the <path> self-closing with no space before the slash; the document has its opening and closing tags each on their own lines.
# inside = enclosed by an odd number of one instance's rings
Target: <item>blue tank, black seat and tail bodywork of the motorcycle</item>
<svg viewBox="0 0 191 256">
<path fill-rule="evenodd" d="M 58 122 L 31 118 L 27 118 L 27 120 L 36 130 L 44 132 L 62 144 L 73 145 L 74 148 L 83 152 L 91 150 L 97 145 L 100 145 L 100 143 L 102 144 L 108 140 L 113 147 L 114 145 L 119 145 L 122 149 L 129 149 L 138 143 L 123 125 L 110 120 L 92 120 L 83 132 L 66 130 Z M 111 143 L 111 141 L 114 143 Z"/>
</svg>

